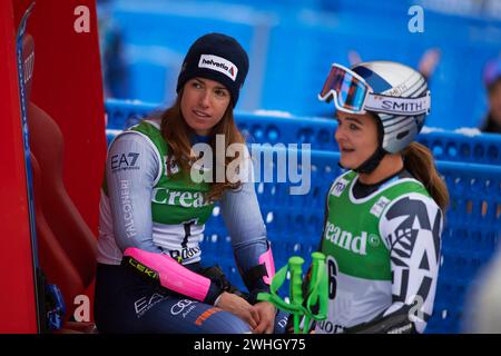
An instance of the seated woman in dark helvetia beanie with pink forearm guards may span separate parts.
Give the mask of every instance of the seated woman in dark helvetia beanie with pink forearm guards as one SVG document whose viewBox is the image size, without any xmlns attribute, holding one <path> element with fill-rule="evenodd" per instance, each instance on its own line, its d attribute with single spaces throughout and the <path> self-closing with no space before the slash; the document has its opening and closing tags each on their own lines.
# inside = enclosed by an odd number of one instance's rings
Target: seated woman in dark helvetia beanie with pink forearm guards
<svg viewBox="0 0 501 356">
<path fill-rule="evenodd" d="M 235 160 L 249 167 L 248 151 L 216 155 L 216 142 L 224 152 L 229 145 L 245 147 L 233 110 L 247 71 L 247 53 L 234 38 L 200 37 L 183 62 L 174 106 L 110 145 L 95 301 L 100 332 L 283 330 L 285 316 L 275 318 L 273 305 L 256 303 L 259 291 L 269 290 L 274 264 L 252 169 L 228 170 Z M 196 154 L 200 145 L 203 156 Z M 200 158 L 204 166 L 197 166 Z M 199 241 L 215 201 L 248 293 L 236 290 L 220 268 L 200 265 Z"/>
</svg>

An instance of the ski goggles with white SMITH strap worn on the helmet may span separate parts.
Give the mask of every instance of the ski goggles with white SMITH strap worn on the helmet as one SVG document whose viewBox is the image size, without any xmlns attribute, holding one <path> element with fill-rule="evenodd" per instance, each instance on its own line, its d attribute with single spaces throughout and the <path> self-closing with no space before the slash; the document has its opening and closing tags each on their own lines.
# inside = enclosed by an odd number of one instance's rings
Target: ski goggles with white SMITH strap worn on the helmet
<svg viewBox="0 0 501 356">
<path fill-rule="evenodd" d="M 374 93 L 364 78 L 354 71 L 333 63 L 318 99 L 334 99 L 337 110 L 347 113 L 367 111 L 389 115 L 415 116 L 430 112 L 430 90 L 419 98 L 401 98 Z"/>
</svg>

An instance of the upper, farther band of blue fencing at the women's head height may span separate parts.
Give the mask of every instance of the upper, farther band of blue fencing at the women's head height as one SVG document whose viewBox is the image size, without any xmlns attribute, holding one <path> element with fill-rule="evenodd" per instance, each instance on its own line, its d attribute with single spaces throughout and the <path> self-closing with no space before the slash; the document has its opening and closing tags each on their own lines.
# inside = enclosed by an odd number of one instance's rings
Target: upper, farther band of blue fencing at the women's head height
<svg viewBox="0 0 501 356">
<path fill-rule="evenodd" d="M 155 103 L 108 99 L 108 142 L 122 129 L 128 128 L 151 111 L 159 110 Z M 298 118 L 281 113 L 237 112 L 235 120 L 247 141 L 275 144 L 310 144 L 312 149 L 337 151 L 334 120 L 324 118 Z M 431 130 L 424 128 L 418 141 L 426 146 L 438 160 L 474 162 L 501 166 L 501 135 L 466 134 Z"/>
</svg>

